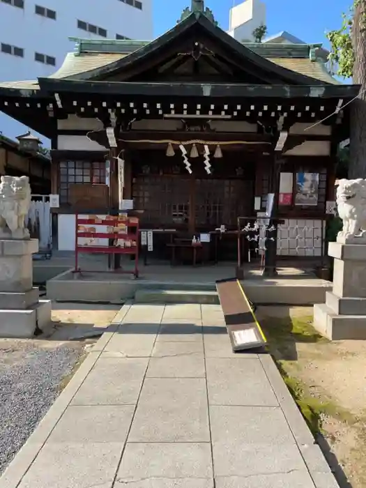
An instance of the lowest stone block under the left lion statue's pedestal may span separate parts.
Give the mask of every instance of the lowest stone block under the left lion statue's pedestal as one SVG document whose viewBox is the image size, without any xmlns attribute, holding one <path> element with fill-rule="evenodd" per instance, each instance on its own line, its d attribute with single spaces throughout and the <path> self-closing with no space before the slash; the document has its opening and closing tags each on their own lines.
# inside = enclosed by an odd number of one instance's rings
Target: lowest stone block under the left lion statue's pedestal
<svg viewBox="0 0 366 488">
<path fill-rule="evenodd" d="M 0 310 L 0 337 L 28 339 L 51 322 L 51 301 L 40 300 L 27 310 Z"/>
</svg>

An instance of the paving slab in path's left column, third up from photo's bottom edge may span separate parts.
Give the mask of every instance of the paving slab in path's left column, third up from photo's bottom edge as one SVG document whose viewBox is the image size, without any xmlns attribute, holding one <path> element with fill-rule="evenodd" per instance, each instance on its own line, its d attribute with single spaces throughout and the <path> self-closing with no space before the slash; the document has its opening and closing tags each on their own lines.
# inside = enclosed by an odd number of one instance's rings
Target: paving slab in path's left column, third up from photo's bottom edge
<svg viewBox="0 0 366 488">
<path fill-rule="evenodd" d="M 73 405 L 135 405 L 147 365 L 146 358 L 100 359 L 71 403 Z"/>
</svg>

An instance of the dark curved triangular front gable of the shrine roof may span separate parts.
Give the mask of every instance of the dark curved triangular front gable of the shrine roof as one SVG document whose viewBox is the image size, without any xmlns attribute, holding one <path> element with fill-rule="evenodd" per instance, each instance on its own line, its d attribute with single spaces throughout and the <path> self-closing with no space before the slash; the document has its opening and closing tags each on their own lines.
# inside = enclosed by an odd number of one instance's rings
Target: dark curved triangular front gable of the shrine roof
<svg viewBox="0 0 366 488">
<path fill-rule="evenodd" d="M 154 58 L 163 56 L 164 52 L 167 52 L 181 38 L 192 38 L 194 40 L 197 35 L 206 36 L 214 40 L 222 49 L 226 50 L 228 55 L 232 54 L 238 59 L 240 63 L 243 63 L 243 70 L 245 68 L 254 70 L 259 76 L 264 79 L 274 79 L 275 83 L 279 84 L 326 84 L 327 82 L 319 79 L 314 79 L 295 73 L 292 70 L 278 66 L 275 63 L 271 63 L 263 56 L 259 56 L 245 45 L 239 43 L 237 40 L 229 36 L 220 27 L 216 26 L 208 20 L 208 18 L 199 12 L 191 13 L 182 22 L 179 22 L 165 34 L 159 38 L 153 40 L 135 52 L 130 53 L 128 56 L 123 56 L 121 59 L 109 63 L 100 68 L 89 70 L 86 73 L 79 73 L 73 75 L 73 79 L 96 79 L 102 80 L 115 75 L 122 76 L 123 81 L 128 81 L 128 77 L 123 77 L 124 70 L 130 70 L 132 66 L 134 68 L 140 68 L 144 70 L 144 66 L 147 63 L 151 63 Z"/>
</svg>

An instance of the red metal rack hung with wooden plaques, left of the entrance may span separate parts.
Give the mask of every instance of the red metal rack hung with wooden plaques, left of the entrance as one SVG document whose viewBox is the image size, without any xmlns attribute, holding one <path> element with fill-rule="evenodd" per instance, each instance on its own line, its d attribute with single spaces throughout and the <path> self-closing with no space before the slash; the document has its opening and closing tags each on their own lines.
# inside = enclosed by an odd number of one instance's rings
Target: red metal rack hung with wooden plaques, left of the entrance
<svg viewBox="0 0 366 488">
<path fill-rule="evenodd" d="M 94 229 L 87 230 L 84 226 L 93 226 Z M 105 226 L 107 232 L 98 232 L 97 226 Z M 83 228 L 84 227 L 84 228 Z M 132 232 L 130 228 L 135 230 Z M 79 238 L 87 239 L 108 239 L 113 245 L 80 245 Z M 139 219 L 127 215 L 107 215 L 105 218 L 98 218 L 97 215 L 89 215 L 88 218 L 80 218 L 75 215 L 75 273 L 81 273 L 79 268 L 79 253 L 91 254 L 132 254 L 135 256 L 134 270 L 116 270 L 118 273 L 128 273 L 139 276 Z M 88 270 L 91 271 L 91 270 Z M 98 271 L 93 270 L 93 273 Z"/>
</svg>

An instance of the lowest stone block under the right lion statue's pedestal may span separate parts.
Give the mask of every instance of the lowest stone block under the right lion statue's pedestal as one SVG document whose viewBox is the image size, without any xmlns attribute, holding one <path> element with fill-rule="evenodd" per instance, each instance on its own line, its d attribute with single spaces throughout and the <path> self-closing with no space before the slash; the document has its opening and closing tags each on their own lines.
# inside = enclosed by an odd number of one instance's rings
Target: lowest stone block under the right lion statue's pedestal
<svg viewBox="0 0 366 488">
<path fill-rule="evenodd" d="M 365 340 L 365 315 L 337 315 L 326 305 L 314 305 L 314 328 L 330 340 Z"/>
</svg>

